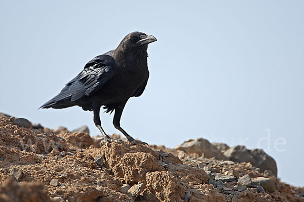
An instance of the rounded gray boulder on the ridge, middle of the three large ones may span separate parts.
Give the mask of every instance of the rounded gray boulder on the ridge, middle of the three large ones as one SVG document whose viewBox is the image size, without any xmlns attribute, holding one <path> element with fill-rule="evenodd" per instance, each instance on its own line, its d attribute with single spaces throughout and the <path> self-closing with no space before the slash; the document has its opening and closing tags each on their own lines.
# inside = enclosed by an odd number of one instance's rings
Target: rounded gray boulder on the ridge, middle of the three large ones
<svg viewBox="0 0 304 202">
<path fill-rule="evenodd" d="M 224 156 L 235 162 L 250 162 L 254 165 L 254 159 L 243 145 L 230 147 L 224 152 Z"/>
</svg>

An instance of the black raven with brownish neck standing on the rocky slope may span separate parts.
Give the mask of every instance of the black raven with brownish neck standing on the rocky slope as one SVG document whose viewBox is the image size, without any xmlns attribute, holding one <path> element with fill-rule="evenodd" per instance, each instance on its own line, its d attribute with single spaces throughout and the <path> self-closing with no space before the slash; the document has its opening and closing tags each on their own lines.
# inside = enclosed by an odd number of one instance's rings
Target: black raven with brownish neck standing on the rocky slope
<svg viewBox="0 0 304 202">
<path fill-rule="evenodd" d="M 141 32 L 128 34 L 116 49 L 89 61 L 77 77 L 40 108 L 80 106 L 83 110 L 93 111 L 94 123 L 106 144 L 122 142 L 111 139 L 102 129 L 99 111 L 103 106 L 106 113 L 115 111 L 113 125 L 129 142 L 136 144 L 120 126 L 120 119 L 128 99 L 140 96 L 145 89 L 149 78 L 147 47 L 156 40 L 154 36 Z"/>
</svg>

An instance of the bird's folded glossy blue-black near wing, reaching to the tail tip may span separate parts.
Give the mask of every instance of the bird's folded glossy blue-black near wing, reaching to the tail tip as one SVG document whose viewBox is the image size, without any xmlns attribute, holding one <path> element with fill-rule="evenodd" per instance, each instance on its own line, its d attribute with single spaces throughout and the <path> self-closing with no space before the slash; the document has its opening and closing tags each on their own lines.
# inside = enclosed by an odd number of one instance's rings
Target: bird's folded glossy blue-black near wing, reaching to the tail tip
<svg viewBox="0 0 304 202">
<path fill-rule="evenodd" d="M 68 105 L 66 100 L 74 102 L 84 96 L 93 94 L 112 78 L 114 68 L 115 61 L 109 55 L 93 58 L 85 65 L 85 68 L 77 77 L 68 82 L 58 95 L 41 108 L 60 108 L 60 102 Z"/>
</svg>

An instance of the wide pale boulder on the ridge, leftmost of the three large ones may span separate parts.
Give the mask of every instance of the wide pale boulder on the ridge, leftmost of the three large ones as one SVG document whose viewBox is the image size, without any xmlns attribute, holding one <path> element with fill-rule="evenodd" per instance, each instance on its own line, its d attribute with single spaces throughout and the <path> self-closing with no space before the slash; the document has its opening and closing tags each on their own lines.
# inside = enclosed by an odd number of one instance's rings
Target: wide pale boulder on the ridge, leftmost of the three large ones
<svg viewBox="0 0 304 202">
<path fill-rule="evenodd" d="M 183 150 L 187 154 L 198 154 L 204 158 L 215 157 L 217 160 L 227 160 L 221 151 L 208 140 L 198 138 L 196 140 L 188 140 L 175 147 L 176 149 Z"/>
</svg>

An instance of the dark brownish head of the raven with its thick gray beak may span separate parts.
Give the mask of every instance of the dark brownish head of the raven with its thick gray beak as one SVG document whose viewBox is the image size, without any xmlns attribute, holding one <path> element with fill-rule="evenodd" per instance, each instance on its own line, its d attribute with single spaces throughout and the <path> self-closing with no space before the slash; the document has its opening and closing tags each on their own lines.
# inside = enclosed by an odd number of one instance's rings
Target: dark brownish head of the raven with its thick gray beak
<svg viewBox="0 0 304 202">
<path fill-rule="evenodd" d="M 157 41 L 154 36 L 136 31 L 125 36 L 118 48 L 119 51 L 133 54 L 140 51 L 146 51 L 148 44 L 154 41 Z"/>
</svg>

